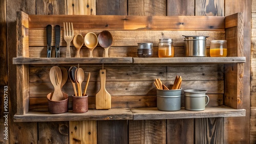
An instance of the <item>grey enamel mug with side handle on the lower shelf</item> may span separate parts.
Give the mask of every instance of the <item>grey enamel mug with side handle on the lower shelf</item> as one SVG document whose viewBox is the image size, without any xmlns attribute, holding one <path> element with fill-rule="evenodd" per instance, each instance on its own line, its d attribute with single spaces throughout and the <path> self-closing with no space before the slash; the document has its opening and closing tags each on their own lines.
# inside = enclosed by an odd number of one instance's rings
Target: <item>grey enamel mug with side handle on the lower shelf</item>
<svg viewBox="0 0 256 144">
<path fill-rule="evenodd" d="M 202 89 L 184 90 L 185 109 L 191 111 L 205 110 L 205 106 L 209 103 L 209 97 L 206 92 L 207 90 Z"/>
</svg>

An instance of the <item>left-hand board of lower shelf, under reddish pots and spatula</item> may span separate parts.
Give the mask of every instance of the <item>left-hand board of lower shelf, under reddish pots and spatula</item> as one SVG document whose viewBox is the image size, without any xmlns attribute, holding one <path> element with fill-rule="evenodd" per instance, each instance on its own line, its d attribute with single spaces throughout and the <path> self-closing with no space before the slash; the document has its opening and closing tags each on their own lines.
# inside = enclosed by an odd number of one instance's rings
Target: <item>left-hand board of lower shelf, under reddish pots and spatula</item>
<svg viewBox="0 0 256 144">
<path fill-rule="evenodd" d="M 15 114 L 14 122 L 52 122 L 52 121 L 87 121 L 87 120 L 129 120 L 133 113 L 128 108 L 113 108 L 109 110 L 89 109 L 86 113 L 52 114 L 48 111 L 29 111 L 25 115 Z"/>
</svg>

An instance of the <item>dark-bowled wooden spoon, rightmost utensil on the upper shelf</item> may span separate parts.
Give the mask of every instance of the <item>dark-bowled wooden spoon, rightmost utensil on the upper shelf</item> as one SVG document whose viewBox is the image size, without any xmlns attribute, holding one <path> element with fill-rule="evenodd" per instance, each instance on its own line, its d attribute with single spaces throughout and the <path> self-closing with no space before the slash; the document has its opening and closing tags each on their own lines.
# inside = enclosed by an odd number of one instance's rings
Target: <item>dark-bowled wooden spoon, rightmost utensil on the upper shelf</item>
<svg viewBox="0 0 256 144">
<path fill-rule="evenodd" d="M 113 36 L 109 31 L 102 31 L 99 33 L 99 45 L 105 49 L 105 56 L 109 57 L 109 48 L 113 43 Z"/>
</svg>

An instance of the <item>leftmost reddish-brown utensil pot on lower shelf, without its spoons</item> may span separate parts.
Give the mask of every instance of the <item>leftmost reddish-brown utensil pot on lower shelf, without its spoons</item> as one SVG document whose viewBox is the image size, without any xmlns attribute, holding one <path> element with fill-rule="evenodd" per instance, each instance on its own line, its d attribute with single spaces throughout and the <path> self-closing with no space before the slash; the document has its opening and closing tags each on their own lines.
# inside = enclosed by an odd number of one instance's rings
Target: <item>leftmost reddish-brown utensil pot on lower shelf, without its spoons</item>
<svg viewBox="0 0 256 144">
<path fill-rule="evenodd" d="M 53 92 L 47 94 L 47 99 L 48 99 L 48 111 L 50 113 L 65 113 L 68 111 L 68 104 L 69 104 L 69 97 L 68 94 L 65 92 L 63 93 L 63 97 L 65 98 L 65 100 L 62 101 L 52 101 L 51 97 Z"/>
</svg>

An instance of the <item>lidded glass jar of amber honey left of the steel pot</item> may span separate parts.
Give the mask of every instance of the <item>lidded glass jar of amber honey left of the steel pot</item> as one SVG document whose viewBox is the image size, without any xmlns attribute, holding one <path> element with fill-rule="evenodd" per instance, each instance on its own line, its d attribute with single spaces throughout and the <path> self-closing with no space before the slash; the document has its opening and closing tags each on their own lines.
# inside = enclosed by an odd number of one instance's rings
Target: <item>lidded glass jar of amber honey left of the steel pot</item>
<svg viewBox="0 0 256 144">
<path fill-rule="evenodd" d="M 174 57 L 173 39 L 159 39 L 158 43 L 158 57 Z"/>
</svg>

